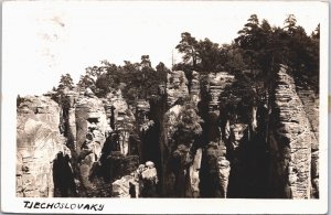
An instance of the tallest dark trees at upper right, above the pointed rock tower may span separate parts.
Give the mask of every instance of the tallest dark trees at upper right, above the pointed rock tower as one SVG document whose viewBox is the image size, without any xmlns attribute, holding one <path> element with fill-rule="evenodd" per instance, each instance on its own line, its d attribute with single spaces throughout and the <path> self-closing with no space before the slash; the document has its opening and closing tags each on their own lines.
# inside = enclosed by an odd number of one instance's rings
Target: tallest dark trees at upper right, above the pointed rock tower
<svg viewBox="0 0 331 215">
<path fill-rule="evenodd" d="M 235 39 L 244 51 L 245 62 L 249 68 L 261 69 L 266 77 L 275 65 L 286 64 L 292 68 L 297 79 L 316 82 L 319 73 L 319 25 L 309 36 L 302 26 L 297 25 L 293 14 L 289 14 L 284 24 L 284 28 L 270 28 L 266 20 L 259 23 L 256 15 L 250 15 Z"/>
</svg>

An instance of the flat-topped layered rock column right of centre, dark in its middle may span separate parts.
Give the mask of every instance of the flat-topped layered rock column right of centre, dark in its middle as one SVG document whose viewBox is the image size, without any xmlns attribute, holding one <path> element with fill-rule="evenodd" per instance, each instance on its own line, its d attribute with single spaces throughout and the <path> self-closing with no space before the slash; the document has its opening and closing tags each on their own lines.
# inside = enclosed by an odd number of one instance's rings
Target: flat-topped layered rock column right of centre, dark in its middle
<svg viewBox="0 0 331 215">
<path fill-rule="evenodd" d="M 210 73 L 202 77 L 200 112 L 204 119 L 203 132 L 205 149 L 202 154 L 201 169 L 201 194 L 205 197 L 226 197 L 229 175 L 229 163 L 227 161 L 227 148 L 225 127 L 227 112 L 225 108 L 228 103 L 224 97 L 226 88 L 232 86 L 235 77 L 225 72 Z"/>
</svg>

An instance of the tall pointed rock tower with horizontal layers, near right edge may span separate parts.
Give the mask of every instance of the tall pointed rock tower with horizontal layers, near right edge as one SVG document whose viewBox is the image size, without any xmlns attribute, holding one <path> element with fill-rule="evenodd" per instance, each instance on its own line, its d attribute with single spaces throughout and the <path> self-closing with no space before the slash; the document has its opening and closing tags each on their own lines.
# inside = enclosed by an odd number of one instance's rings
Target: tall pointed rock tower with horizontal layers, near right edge
<svg viewBox="0 0 331 215">
<path fill-rule="evenodd" d="M 293 78 L 282 65 L 276 74 L 274 99 L 269 125 L 274 195 L 309 198 L 314 139 Z"/>
</svg>

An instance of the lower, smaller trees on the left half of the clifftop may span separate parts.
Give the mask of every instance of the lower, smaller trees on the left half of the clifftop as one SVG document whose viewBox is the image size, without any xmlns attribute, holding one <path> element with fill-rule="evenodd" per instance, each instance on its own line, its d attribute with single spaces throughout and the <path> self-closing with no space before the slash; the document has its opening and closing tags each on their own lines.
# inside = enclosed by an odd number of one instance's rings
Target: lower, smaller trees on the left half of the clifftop
<svg viewBox="0 0 331 215">
<path fill-rule="evenodd" d="M 156 68 L 151 66 L 149 55 L 142 55 L 140 63 L 125 61 L 124 65 L 116 65 L 102 61 L 100 66 L 87 67 L 82 75 L 77 88 L 90 88 L 98 97 L 104 97 L 114 89 L 120 88 L 124 97 L 132 105 L 137 99 L 149 99 L 158 94 L 159 86 L 167 82 L 170 71 L 160 62 Z M 74 87 L 70 74 L 62 75 L 60 85 L 54 90 Z"/>
</svg>

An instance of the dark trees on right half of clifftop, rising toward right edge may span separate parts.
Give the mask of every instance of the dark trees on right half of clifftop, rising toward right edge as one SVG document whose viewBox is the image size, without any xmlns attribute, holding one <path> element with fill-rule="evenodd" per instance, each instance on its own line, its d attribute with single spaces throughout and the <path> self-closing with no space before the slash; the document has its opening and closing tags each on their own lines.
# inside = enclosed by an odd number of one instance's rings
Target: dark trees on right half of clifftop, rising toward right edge
<svg viewBox="0 0 331 215">
<path fill-rule="evenodd" d="M 181 34 L 177 45 L 183 62 L 174 69 L 239 73 L 244 69 L 259 69 L 263 76 L 280 63 L 288 65 L 296 77 L 318 80 L 320 25 L 308 35 L 289 14 L 284 26 L 270 26 L 267 20 L 259 21 L 252 14 L 238 31 L 232 44 L 220 45 L 209 39 L 197 41 L 189 32 Z M 317 84 L 317 83 L 312 83 Z"/>
</svg>

